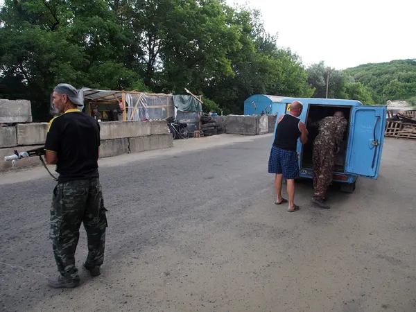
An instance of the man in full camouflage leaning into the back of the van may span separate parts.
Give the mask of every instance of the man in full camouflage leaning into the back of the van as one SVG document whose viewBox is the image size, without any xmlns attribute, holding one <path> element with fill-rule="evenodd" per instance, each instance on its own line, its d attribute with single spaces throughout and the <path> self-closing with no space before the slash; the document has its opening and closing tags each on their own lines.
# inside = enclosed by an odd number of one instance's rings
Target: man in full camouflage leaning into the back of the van
<svg viewBox="0 0 416 312">
<path fill-rule="evenodd" d="M 325 193 L 332 182 L 336 154 L 347 129 L 347 120 L 343 112 L 335 112 L 311 126 L 318 127 L 318 136 L 313 142 L 313 203 L 329 209 L 324 204 Z"/>
</svg>

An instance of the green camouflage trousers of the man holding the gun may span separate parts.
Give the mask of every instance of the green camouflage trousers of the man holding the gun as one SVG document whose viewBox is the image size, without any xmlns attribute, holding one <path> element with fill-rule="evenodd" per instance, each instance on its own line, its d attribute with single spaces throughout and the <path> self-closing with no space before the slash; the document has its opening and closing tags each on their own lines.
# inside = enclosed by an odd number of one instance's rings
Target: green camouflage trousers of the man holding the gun
<svg viewBox="0 0 416 312">
<path fill-rule="evenodd" d="M 53 256 L 60 274 L 67 279 L 79 279 L 75 266 L 75 251 L 80 225 L 87 232 L 88 256 L 85 266 L 101 266 L 104 261 L 105 216 L 103 193 L 99 179 L 58 183 L 53 189 L 51 231 Z"/>
</svg>

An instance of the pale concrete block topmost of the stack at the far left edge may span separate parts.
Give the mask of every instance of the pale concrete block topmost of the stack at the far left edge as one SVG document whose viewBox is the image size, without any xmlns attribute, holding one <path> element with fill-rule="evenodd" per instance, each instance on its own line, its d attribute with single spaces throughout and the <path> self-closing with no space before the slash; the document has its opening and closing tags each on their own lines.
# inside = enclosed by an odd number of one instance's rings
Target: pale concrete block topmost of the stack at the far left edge
<svg viewBox="0 0 416 312">
<path fill-rule="evenodd" d="M 31 123 L 31 101 L 0 98 L 0 123 Z"/>
</svg>

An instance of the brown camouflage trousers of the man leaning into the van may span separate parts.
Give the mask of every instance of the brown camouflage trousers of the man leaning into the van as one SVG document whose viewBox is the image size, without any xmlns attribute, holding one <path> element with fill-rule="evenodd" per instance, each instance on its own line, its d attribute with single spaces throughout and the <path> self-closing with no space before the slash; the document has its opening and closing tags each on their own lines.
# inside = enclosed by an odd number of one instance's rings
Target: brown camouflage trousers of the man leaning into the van
<svg viewBox="0 0 416 312">
<path fill-rule="evenodd" d="M 313 196 L 324 199 L 332 182 L 335 151 L 332 146 L 313 146 Z"/>
</svg>

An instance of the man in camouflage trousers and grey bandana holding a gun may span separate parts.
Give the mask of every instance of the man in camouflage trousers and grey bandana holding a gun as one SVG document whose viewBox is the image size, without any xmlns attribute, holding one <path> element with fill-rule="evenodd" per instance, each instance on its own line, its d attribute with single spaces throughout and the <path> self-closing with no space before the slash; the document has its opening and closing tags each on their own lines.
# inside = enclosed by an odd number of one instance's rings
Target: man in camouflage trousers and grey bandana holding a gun
<svg viewBox="0 0 416 312">
<path fill-rule="evenodd" d="M 75 252 L 81 223 L 88 240 L 84 268 L 93 277 L 100 275 L 104 261 L 107 210 L 98 175 L 100 125 L 78 110 L 83 100 L 74 87 L 60 84 L 53 91 L 53 105 L 63 114 L 49 123 L 44 148 L 46 162 L 56 164 L 60 174 L 53 189 L 49 233 L 60 275 L 48 284 L 73 288 L 80 283 Z"/>
</svg>

